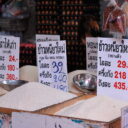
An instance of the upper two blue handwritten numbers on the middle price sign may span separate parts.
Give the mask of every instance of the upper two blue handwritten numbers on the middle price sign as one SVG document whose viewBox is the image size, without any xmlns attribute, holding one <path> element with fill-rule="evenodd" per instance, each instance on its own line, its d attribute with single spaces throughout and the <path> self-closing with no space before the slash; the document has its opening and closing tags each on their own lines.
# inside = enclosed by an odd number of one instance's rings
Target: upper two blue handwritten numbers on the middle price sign
<svg viewBox="0 0 128 128">
<path fill-rule="evenodd" d="M 53 66 L 53 73 L 54 73 L 54 82 L 64 82 L 66 83 L 67 81 L 67 75 L 65 72 L 63 72 L 63 62 L 52 62 Z"/>
</svg>

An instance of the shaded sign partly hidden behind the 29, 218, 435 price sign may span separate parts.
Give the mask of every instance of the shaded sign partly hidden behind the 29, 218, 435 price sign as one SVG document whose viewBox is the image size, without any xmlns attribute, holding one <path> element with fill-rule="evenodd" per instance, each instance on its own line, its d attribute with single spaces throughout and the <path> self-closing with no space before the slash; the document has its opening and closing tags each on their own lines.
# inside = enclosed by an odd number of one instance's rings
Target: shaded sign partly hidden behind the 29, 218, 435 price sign
<svg viewBox="0 0 128 128">
<path fill-rule="evenodd" d="M 87 70 L 97 73 L 98 38 L 86 38 Z"/>
</svg>

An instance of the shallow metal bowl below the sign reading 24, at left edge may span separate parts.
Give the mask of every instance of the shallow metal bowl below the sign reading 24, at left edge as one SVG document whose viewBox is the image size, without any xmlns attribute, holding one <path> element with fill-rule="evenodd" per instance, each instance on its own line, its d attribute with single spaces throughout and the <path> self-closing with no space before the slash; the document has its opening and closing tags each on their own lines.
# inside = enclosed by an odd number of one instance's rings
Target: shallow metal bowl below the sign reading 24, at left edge
<svg viewBox="0 0 128 128">
<path fill-rule="evenodd" d="M 27 82 L 28 81 L 24 80 L 4 80 L 0 82 L 0 87 L 7 91 L 11 91 L 12 89 L 17 88 Z"/>
</svg>

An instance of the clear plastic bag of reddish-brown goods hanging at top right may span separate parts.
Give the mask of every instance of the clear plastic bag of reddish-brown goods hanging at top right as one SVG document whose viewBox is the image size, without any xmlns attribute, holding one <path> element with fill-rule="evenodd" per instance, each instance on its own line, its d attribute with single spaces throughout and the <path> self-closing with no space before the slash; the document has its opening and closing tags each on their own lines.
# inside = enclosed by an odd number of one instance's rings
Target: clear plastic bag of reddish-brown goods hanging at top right
<svg viewBox="0 0 128 128">
<path fill-rule="evenodd" d="M 111 10 L 104 16 L 104 30 L 109 32 L 114 37 L 122 37 L 126 33 L 126 13 L 112 0 L 107 8 Z"/>
</svg>

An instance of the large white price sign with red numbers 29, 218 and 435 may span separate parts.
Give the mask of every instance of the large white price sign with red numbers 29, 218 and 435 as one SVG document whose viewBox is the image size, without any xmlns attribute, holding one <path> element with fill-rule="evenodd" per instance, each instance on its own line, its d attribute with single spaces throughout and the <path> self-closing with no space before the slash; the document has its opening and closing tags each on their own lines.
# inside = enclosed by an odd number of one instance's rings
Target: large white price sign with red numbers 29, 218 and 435
<svg viewBox="0 0 128 128">
<path fill-rule="evenodd" d="M 98 38 L 97 94 L 128 100 L 128 40 Z"/>
</svg>

